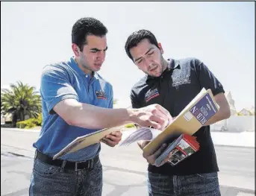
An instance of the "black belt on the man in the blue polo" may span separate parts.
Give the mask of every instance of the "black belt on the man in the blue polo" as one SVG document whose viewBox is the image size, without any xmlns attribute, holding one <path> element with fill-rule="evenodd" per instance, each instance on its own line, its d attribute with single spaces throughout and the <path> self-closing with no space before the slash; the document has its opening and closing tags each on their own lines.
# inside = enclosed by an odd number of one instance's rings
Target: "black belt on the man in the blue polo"
<svg viewBox="0 0 256 196">
<path fill-rule="evenodd" d="M 40 161 L 49 165 L 54 165 L 58 167 L 63 167 L 65 169 L 77 171 L 77 170 L 86 169 L 86 168 L 93 168 L 93 165 L 99 161 L 99 155 L 87 161 L 71 162 L 71 161 L 60 160 L 60 159 L 53 160 L 52 157 L 49 157 L 46 154 L 42 154 L 39 151 L 36 151 L 35 159 L 39 159 Z"/>
</svg>

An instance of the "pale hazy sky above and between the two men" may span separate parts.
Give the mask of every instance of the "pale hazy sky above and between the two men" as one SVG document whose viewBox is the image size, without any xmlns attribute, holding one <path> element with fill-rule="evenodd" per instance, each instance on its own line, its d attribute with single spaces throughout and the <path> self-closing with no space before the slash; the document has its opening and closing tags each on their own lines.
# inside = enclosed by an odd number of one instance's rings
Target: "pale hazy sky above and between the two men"
<svg viewBox="0 0 256 196">
<path fill-rule="evenodd" d="M 254 2 L 1 2 L 1 86 L 21 80 L 40 88 L 43 66 L 72 56 L 71 29 L 93 16 L 107 26 L 107 57 L 99 72 L 128 107 L 143 72 L 125 54 L 125 41 L 145 28 L 166 58 L 197 57 L 225 88 L 237 110 L 255 105 Z"/>
</svg>

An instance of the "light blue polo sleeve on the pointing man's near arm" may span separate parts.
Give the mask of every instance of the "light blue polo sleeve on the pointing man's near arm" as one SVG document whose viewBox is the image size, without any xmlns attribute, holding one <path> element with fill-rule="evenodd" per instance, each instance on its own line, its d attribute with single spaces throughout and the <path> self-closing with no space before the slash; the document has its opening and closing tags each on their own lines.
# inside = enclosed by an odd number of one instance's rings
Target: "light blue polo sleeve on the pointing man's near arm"
<svg viewBox="0 0 256 196">
<path fill-rule="evenodd" d="M 68 72 L 58 66 L 46 66 L 43 69 L 40 92 L 50 114 L 54 113 L 54 106 L 66 98 L 79 101 L 78 94 L 69 81 Z"/>
</svg>

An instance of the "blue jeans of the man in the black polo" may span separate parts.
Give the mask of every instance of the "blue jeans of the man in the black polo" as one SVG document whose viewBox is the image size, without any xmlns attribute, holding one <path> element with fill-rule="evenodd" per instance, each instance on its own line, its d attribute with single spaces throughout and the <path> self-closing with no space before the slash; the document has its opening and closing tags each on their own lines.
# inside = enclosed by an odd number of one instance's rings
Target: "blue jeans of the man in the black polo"
<svg viewBox="0 0 256 196">
<path fill-rule="evenodd" d="M 217 172 L 187 176 L 148 173 L 149 196 L 219 196 Z"/>
</svg>

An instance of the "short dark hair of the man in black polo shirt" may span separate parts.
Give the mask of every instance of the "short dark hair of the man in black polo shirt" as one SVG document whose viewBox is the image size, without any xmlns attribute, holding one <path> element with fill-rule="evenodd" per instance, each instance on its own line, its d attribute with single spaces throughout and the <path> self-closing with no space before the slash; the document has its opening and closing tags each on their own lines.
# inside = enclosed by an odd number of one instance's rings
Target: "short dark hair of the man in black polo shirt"
<svg viewBox="0 0 256 196">
<path fill-rule="evenodd" d="M 130 49 L 136 47 L 143 39 L 149 39 L 149 42 L 151 42 L 152 44 L 156 45 L 157 48 L 159 48 L 157 39 L 154 37 L 154 34 L 152 34 L 151 31 L 145 29 L 135 31 L 128 37 L 128 39 L 125 42 L 125 51 L 131 60 L 133 59 L 131 57 Z"/>
</svg>

